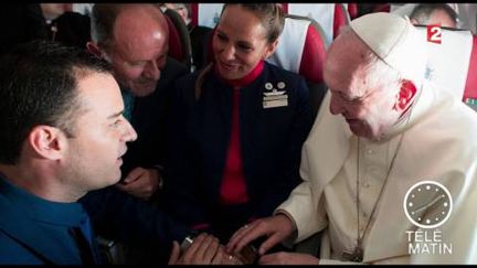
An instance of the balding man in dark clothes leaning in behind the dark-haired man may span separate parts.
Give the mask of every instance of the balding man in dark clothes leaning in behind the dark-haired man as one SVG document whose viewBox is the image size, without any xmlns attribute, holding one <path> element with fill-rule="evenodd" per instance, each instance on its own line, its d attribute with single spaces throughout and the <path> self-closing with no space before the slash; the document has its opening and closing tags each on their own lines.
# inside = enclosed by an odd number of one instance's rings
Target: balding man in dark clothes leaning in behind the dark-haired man
<svg viewBox="0 0 477 268">
<path fill-rule="evenodd" d="M 113 65 L 125 117 L 138 132 L 117 186 L 150 200 L 163 182 L 172 82 L 189 71 L 168 57 L 168 23 L 155 4 L 95 4 L 91 23 L 93 41 L 87 49 Z"/>
</svg>

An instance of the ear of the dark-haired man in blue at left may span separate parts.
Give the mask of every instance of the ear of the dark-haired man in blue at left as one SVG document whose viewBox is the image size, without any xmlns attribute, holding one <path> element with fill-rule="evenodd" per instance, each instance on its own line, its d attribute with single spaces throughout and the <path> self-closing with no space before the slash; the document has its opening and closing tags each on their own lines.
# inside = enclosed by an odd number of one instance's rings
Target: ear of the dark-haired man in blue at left
<svg viewBox="0 0 477 268">
<path fill-rule="evenodd" d="M 28 142 L 42 158 L 59 160 L 63 157 L 66 137 L 59 128 L 39 125 L 30 131 Z"/>
</svg>

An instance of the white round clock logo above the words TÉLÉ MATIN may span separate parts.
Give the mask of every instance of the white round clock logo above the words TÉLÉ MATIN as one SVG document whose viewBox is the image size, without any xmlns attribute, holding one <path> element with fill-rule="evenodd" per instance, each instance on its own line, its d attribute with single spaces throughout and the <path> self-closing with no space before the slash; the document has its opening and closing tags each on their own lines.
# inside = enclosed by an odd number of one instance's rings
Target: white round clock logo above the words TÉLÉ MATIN
<svg viewBox="0 0 477 268">
<path fill-rule="evenodd" d="M 407 190 L 403 206 L 411 223 L 421 228 L 435 228 L 451 216 L 453 200 L 443 184 L 422 181 Z"/>
</svg>

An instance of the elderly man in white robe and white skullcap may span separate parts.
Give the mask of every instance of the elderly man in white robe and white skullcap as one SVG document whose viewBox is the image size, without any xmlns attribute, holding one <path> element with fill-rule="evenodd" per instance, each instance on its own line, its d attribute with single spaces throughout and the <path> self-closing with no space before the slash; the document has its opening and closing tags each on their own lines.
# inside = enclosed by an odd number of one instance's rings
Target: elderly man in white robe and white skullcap
<svg viewBox="0 0 477 268">
<path fill-rule="evenodd" d="M 227 250 L 266 236 L 259 264 L 476 264 L 477 115 L 424 79 L 407 19 L 353 20 L 328 51 L 329 87 L 299 184 Z M 319 256 L 264 255 L 322 232 Z"/>
</svg>

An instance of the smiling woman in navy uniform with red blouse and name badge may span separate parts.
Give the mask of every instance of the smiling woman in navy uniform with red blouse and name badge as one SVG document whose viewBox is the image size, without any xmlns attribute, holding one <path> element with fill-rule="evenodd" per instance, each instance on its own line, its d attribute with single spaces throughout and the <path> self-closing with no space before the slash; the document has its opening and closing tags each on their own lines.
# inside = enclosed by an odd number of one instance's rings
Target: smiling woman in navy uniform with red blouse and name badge
<svg viewBox="0 0 477 268">
<path fill-rule="evenodd" d="M 308 87 L 264 61 L 283 26 L 279 4 L 224 4 L 213 63 L 177 82 L 163 204 L 222 243 L 272 215 L 300 182 L 300 149 L 314 119 Z"/>
</svg>

